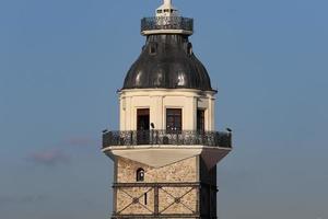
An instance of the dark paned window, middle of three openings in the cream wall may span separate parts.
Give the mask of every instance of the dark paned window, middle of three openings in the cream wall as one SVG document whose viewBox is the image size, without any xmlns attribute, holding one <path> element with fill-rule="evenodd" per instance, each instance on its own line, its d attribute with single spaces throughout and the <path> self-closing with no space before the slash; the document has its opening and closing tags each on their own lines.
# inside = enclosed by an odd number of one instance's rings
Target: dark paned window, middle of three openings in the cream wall
<svg viewBox="0 0 328 219">
<path fill-rule="evenodd" d="M 166 110 L 166 130 L 178 131 L 183 130 L 183 111 L 181 108 Z"/>
</svg>

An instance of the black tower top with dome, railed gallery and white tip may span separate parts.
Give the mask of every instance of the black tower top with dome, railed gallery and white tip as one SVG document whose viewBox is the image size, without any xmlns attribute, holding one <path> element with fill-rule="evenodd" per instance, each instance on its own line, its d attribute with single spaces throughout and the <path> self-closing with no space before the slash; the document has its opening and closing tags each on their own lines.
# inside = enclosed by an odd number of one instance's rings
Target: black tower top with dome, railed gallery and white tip
<svg viewBox="0 0 328 219">
<path fill-rule="evenodd" d="M 125 89 L 196 89 L 212 91 L 204 66 L 192 53 L 188 36 L 194 21 L 179 16 L 169 0 L 156 9 L 155 16 L 141 21 L 147 36 L 141 55 L 129 69 Z"/>
</svg>

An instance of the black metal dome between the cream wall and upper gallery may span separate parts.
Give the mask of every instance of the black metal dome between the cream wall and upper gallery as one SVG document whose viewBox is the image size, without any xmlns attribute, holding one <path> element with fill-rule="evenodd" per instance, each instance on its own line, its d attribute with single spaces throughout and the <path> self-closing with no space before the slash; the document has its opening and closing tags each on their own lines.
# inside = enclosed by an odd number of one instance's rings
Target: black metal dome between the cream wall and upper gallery
<svg viewBox="0 0 328 219">
<path fill-rule="evenodd" d="M 150 35 L 122 89 L 197 89 L 212 91 L 210 77 L 183 35 Z"/>
</svg>

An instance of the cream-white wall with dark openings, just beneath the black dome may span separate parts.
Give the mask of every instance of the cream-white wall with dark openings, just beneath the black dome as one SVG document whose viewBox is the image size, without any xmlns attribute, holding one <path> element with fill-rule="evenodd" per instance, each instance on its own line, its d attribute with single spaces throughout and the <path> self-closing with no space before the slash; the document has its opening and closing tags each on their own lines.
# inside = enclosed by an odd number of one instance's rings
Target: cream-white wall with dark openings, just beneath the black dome
<svg viewBox="0 0 328 219">
<path fill-rule="evenodd" d="M 196 130 L 197 108 L 206 110 L 206 130 L 214 130 L 215 92 L 189 89 L 132 89 L 119 93 L 120 130 L 137 129 L 137 110 L 150 108 L 155 129 L 166 128 L 166 108 L 183 110 L 183 129 Z"/>
</svg>

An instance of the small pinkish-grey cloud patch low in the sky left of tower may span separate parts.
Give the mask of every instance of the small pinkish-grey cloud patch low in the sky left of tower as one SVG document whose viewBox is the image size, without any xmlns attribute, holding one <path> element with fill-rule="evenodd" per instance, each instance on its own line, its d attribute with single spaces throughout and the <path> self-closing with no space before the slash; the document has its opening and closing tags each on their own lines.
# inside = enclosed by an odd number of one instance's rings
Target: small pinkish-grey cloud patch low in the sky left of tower
<svg viewBox="0 0 328 219">
<path fill-rule="evenodd" d="M 70 157 L 61 150 L 47 150 L 34 152 L 27 157 L 27 160 L 36 164 L 54 166 L 61 163 L 68 163 Z"/>
</svg>

